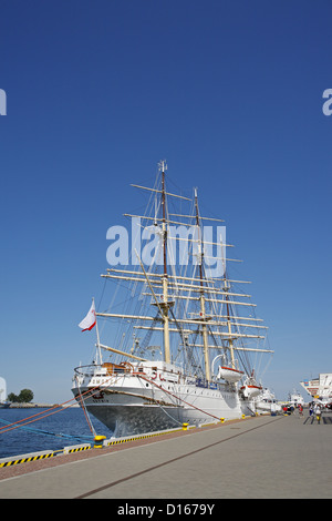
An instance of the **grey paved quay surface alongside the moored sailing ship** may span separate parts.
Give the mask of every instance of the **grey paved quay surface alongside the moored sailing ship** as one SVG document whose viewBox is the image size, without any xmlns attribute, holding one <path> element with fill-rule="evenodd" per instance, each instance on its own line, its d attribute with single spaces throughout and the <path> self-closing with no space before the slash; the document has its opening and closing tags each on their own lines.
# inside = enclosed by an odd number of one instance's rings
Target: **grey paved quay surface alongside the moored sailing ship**
<svg viewBox="0 0 332 521">
<path fill-rule="evenodd" d="M 0 498 L 326 499 L 331 441 L 331 413 L 249 418 L 3 468 Z"/>
</svg>

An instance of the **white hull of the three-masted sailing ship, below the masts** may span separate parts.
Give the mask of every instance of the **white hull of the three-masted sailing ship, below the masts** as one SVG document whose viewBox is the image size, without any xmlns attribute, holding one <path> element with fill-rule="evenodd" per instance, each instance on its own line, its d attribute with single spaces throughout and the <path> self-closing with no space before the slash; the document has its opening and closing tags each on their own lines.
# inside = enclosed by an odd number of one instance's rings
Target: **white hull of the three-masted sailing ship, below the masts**
<svg viewBox="0 0 332 521">
<path fill-rule="evenodd" d="M 184 377 L 176 366 L 168 366 L 172 372 L 144 367 L 141 374 L 112 376 L 96 368 L 94 374 L 77 376 L 72 391 L 79 403 L 83 397 L 87 411 L 116 437 L 253 413 L 235 386 L 204 387 L 203 382 Z"/>
</svg>

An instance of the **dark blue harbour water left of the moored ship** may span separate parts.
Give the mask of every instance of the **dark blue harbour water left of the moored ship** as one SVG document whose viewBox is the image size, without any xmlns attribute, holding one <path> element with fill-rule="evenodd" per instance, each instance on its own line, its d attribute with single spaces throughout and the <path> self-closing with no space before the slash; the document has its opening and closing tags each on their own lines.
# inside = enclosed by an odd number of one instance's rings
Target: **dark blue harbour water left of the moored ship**
<svg viewBox="0 0 332 521">
<path fill-rule="evenodd" d="M 42 411 L 44 412 L 46 409 L 0 409 L 0 428 L 4 427 L 2 420 L 11 423 Z M 44 413 L 46 415 L 48 412 Z M 112 431 L 103 423 L 91 415 L 90 419 L 97 435 L 106 436 L 106 438 L 112 437 Z M 1 429 L 0 458 L 20 456 L 39 450 L 59 450 L 71 445 L 93 440 L 93 435 L 81 408 L 61 409 L 60 412 L 29 423 L 27 428 L 45 432 L 31 432 L 23 428 L 3 432 L 6 429 Z M 81 439 L 70 438 L 69 436 L 77 436 Z"/>
</svg>

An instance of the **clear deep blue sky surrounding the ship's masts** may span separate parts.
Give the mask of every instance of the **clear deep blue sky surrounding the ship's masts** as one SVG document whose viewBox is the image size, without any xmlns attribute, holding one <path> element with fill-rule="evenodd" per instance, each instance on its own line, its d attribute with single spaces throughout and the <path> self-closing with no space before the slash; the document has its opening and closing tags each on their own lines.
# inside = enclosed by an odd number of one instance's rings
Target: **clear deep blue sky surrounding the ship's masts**
<svg viewBox="0 0 332 521">
<path fill-rule="evenodd" d="M 330 0 L 1 0 L 0 375 L 71 398 L 129 183 L 226 219 L 287 397 L 332 371 Z"/>
</svg>

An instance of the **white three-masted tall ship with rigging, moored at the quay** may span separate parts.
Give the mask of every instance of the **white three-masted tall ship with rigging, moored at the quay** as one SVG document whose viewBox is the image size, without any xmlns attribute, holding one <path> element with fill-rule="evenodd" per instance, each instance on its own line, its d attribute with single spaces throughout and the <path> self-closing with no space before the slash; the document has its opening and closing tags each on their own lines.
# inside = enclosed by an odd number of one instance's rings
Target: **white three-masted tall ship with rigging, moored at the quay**
<svg viewBox="0 0 332 521">
<path fill-rule="evenodd" d="M 229 276 L 238 260 L 226 256 L 222 221 L 201 216 L 197 190 L 168 192 L 166 170 L 154 187 L 133 185 L 149 201 L 144 215 L 125 214 L 129 262 L 113 243 L 118 264 L 102 275 L 112 302 L 97 313 L 93 302 L 80 324 L 95 326 L 95 355 L 74 369 L 72 391 L 116 437 L 255 415 L 256 370 L 273 353 L 250 283 Z"/>
</svg>

